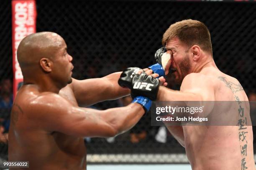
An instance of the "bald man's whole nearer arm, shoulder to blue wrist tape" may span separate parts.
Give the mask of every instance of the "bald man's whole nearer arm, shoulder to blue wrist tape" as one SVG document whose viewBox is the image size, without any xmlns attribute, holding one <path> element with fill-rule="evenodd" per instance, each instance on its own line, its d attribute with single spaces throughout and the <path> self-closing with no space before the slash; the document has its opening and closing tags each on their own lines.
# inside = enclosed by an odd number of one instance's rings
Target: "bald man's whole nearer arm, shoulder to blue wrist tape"
<svg viewBox="0 0 256 170">
<path fill-rule="evenodd" d="M 44 97 L 44 102 L 37 106 L 36 110 L 44 111 L 33 115 L 33 120 L 49 132 L 57 131 L 77 137 L 118 135 L 131 129 L 145 112 L 138 103 L 102 111 L 74 107 L 59 95 L 50 96 Z M 49 107 L 49 103 L 53 105 Z"/>
</svg>

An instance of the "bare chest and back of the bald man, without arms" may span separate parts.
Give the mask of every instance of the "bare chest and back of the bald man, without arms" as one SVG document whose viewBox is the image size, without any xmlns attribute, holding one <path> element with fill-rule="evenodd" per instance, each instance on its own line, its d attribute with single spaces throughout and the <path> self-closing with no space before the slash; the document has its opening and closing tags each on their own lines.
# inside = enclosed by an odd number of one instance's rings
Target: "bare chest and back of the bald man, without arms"
<svg viewBox="0 0 256 170">
<path fill-rule="evenodd" d="M 29 169 L 33 170 L 86 169 L 83 138 L 45 130 L 40 123 L 33 122 L 33 114 L 37 114 L 37 110 L 30 103 L 40 95 L 42 94 L 35 87 L 24 85 L 15 98 L 9 131 L 9 160 L 29 161 Z M 77 106 L 69 85 L 61 89 L 59 95 Z M 54 106 L 54 103 L 50 103 L 49 107 L 51 105 Z"/>
</svg>

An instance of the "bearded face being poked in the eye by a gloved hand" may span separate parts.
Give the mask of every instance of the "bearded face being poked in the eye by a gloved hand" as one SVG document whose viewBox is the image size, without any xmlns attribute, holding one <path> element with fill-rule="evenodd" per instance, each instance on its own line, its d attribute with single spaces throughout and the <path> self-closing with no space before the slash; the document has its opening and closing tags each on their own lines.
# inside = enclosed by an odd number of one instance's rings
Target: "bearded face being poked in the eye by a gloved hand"
<svg viewBox="0 0 256 170">
<path fill-rule="evenodd" d="M 166 50 L 172 52 L 171 61 L 166 66 L 166 70 L 172 71 L 175 82 L 181 84 L 190 70 L 189 49 L 174 37 L 166 42 Z"/>
</svg>

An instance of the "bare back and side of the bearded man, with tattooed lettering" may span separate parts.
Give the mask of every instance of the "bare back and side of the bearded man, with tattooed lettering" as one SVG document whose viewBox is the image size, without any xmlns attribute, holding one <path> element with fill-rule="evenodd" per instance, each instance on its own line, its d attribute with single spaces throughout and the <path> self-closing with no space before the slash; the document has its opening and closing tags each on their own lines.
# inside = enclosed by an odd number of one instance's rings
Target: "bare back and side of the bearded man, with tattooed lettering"
<svg viewBox="0 0 256 170">
<path fill-rule="evenodd" d="M 200 74 L 204 81 L 212 83 L 215 101 L 248 101 L 243 90 L 234 90 L 236 85 L 240 85 L 235 78 L 217 69 L 208 69 Z M 238 110 L 230 110 L 230 105 L 222 105 L 219 109 L 239 115 Z M 252 127 L 243 128 L 241 130 L 239 126 L 183 126 L 187 158 L 192 169 L 255 170 Z"/>
</svg>

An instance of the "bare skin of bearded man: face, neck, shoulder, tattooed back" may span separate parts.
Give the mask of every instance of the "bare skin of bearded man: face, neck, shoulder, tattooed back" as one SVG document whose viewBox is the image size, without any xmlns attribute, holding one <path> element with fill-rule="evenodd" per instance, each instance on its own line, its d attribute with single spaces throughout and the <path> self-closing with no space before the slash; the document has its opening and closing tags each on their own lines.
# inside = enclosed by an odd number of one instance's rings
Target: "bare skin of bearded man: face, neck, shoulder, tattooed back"
<svg viewBox="0 0 256 170">
<path fill-rule="evenodd" d="M 173 52 L 172 64 L 169 67 L 177 70 L 173 75 L 177 82 L 182 84 L 180 91 L 161 86 L 158 100 L 248 101 L 238 80 L 218 70 L 212 57 L 200 50 L 197 45 L 185 52 L 187 47 L 174 37 L 166 43 L 166 49 Z M 186 61 L 184 56 L 189 57 L 189 60 Z M 221 117 L 225 117 L 228 113 L 238 115 L 238 110 L 230 110 L 230 105 L 222 105 L 218 109 L 223 110 Z M 250 118 L 247 120 L 249 121 Z M 193 170 L 245 170 L 246 168 L 255 170 L 252 126 L 244 126 L 243 130 L 239 130 L 238 126 L 167 126 L 167 128 L 185 147 Z"/>
</svg>

